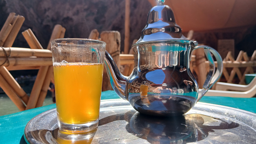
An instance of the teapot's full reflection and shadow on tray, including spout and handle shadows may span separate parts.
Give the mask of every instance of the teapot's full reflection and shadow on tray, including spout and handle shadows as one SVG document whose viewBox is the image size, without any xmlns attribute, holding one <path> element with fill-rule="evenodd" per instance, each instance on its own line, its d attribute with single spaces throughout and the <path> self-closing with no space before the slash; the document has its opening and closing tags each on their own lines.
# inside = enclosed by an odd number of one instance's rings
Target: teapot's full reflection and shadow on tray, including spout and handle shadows
<svg viewBox="0 0 256 144">
<path fill-rule="evenodd" d="M 99 120 L 99 125 L 113 121 L 128 122 L 126 130 L 149 143 L 190 143 L 205 139 L 214 129 L 232 129 L 239 126 L 219 118 L 202 114 L 185 114 L 180 117 L 152 117 L 135 111 L 110 115 Z"/>
</svg>

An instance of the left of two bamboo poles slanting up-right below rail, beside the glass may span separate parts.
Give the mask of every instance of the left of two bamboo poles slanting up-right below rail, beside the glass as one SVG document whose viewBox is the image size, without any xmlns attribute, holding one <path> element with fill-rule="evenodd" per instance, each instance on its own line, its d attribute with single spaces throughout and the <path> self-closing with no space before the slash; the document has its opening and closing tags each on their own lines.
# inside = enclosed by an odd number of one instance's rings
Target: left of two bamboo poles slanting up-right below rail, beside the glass
<svg viewBox="0 0 256 144">
<path fill-rule="evenodd" d="M 35 79 L 35 83 L 30 94 L 29 102 L 27 103 L 26 110 L 35 108 L 35 105 L 37 104 L 38 97 L 43 86 L 46 73 L 48 71 L 47 68 L 48 66 L 42 66 L 39 69 L 37 78 Z"/>
</svg>

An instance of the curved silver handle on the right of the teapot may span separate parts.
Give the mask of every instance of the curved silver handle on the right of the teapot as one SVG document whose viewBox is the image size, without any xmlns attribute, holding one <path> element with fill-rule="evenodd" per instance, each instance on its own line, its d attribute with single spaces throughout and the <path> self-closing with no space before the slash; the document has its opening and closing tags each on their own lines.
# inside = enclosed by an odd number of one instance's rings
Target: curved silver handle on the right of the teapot
<svg viewBox="0 0 256 144">
<path fill-rule="evenodd" d="M 206 55 L 207 60 L 209 61 L 210 70 L 209 70 L 209 73 L 206 77 L 206 81 L 203 84 L 202 90 L 198 93 L 197 102 L 213 86 L 213 84 L 217 82 L 219 77 L 221 77 L 222 70 L 223 70 L 222 58 L 215 49 L 211 48 L 210 46 L 204 46 L 204 45 L 195 46 L 194 48 L 192 48 L 191 53 L 193 52 L 193 50 L 199 49 L 199 48 L 204 48 L 204 53 Z M 211 56 L 211 53 L 214 55 L 214 57 L 217 60 L 217 69 L 216 69 L 216 71 L 215 71 L 214 60 Z"/>
</svg>

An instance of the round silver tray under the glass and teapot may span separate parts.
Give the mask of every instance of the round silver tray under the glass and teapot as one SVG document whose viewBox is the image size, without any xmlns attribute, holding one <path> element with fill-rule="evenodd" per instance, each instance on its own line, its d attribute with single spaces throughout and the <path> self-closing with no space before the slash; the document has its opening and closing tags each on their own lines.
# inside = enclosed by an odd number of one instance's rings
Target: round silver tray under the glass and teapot
<svg viewBox="0 0 256 144">
<path fill-rule="evenodd" d="M 56 109 L 51 109 L 31 119 L 24 135 L 31 144 L 57 144 L 70 138 L 73 143 L 76 139 L 92 144 L 246 144 L 256 143 L 256 114 L 198 102 L 183 116 L 153 117 L 139 114 L 127 101 L 111 99 L 101 102 L 99 126 L 94 132 L 62 137 Z"/>
</svg>

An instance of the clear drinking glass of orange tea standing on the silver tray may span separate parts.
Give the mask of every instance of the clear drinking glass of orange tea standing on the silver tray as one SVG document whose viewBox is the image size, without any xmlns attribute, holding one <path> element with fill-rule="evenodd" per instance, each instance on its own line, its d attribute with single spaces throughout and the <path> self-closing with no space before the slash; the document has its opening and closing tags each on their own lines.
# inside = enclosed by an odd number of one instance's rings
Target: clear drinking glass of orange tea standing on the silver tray
<svg viewBox="0 0 256 144">
<path fill-rule="evenodd" d="M 106 43 L 66 38 L 54 39 L 51 45 L 59 129 L 97 128 Z"/>
</svg>

